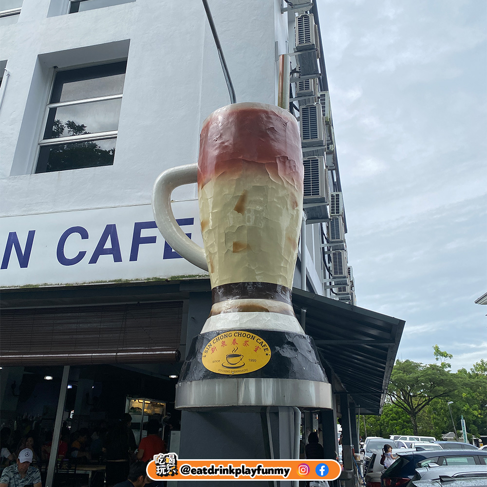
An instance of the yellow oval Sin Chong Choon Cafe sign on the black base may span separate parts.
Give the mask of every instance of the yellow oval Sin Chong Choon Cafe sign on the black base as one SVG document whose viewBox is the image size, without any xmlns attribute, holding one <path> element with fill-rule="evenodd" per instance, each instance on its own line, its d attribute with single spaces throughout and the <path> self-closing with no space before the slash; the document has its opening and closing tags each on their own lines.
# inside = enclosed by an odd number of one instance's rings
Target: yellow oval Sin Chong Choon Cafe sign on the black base
<svg viewBox="0 0 487 487">
<path fill-rule="evenodd" d="M 206 345 L 202 362 L 206 369 L 217 374 L 247 374 L 270 360 L 269 345 L 255 333 L 232 330 L 214 337 Z"/>
</svg>

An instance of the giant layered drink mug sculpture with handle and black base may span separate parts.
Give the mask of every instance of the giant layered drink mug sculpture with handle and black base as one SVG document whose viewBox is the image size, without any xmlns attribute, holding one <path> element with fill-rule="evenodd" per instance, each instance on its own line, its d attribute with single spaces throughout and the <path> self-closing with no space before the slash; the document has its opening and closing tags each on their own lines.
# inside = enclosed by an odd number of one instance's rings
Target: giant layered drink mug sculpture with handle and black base
<svg viewBox="0 0 487 487">
<path fill-rule="evenodd" d="M 185 257 L 192 250 L 183 232 L 174 240 L 161 217 L 168 207 L 172 216 L 168 191 L 161 195 L 177 170 L 158 178 L 153 207 L 162 234 Z M 201 131 L 197 182 L 213 303 L 183 366 L 176 407 L 331 408 L 330 385 L 291 303 L 303 201 L 296 118 L 259 103 L 213 112 Z"/>
</svg>

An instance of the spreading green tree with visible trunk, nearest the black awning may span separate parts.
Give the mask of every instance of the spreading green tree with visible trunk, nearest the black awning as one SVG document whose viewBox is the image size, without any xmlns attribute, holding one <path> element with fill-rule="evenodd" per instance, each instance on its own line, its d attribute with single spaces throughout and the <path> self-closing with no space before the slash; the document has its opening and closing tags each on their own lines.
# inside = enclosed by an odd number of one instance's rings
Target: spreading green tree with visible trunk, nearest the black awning
<svg viewBox="0 0 487 487">
<path fill-rule="evenodd" d="M 418 434 L 419 413 L 435 399 L 448 396 L 456 387 L 450 364 L 442 360 L 452 356 L 437 345 L 433 349 L 435 359 L 441 362 L 439 365 L 397 360 L 387 390 L 391 403 L 411 418 L 414 434 Z"/>
</svg>

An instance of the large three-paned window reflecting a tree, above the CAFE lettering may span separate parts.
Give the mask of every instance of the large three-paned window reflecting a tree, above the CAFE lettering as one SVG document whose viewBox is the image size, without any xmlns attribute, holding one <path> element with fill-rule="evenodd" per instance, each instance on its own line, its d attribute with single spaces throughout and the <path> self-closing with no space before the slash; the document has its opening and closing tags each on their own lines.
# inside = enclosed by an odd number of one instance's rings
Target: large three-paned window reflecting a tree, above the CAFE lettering
<svg viewBox="0 0 487 487">
<path fill-rule="evenodd" d="M 56 73 L 36 173 L 113 164 L 126 66 Z"/>
</svg>

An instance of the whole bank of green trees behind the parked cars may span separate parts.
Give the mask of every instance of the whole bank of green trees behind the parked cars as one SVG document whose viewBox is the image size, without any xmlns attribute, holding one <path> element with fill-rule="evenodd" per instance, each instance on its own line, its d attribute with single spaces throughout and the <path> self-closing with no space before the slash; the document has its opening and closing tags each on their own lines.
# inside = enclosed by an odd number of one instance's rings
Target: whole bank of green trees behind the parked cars
<svg viewBox="0 0 487 487">
<path fill-rule="evenodd" d="M 380 416 L 360 418 L 360 434 L 389 437 L 391 434 L 420 434 L 438 439 L 449 431 L 461 435 L 463 414 L 468 434 L 487 434 L 487 361 L 481 359 L 467 371 L 453 373 L 446 360 L 453 358 L 435 345 L 433 355 L 439 364 L 397 360 L 388 400 Z M 451 421 L 448 402 L 451 404 Z"/>
</svg>

